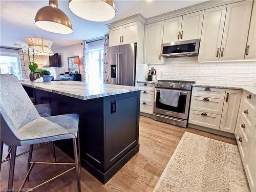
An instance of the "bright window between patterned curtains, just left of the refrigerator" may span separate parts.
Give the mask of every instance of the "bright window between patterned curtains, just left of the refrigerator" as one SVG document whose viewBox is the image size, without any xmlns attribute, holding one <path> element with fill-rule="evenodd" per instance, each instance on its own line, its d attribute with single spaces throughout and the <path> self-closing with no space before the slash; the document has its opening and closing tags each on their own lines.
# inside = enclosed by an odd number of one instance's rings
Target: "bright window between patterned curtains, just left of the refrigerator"
<svg viewBox="0 0 256 192">
<path fill-rule="evenodd" d="M 89 82 L 102 82 L 103 48 L 89 49 L 88 59 Z"/>
</svg>

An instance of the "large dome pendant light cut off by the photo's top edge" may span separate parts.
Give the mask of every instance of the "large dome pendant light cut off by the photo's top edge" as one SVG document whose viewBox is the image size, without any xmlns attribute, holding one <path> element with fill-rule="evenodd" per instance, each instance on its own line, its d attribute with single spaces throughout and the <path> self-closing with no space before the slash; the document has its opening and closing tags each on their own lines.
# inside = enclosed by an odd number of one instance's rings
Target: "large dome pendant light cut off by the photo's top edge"
<svg viewBox="0 0 256 192">
<path fill-rule="evenodd" d="M 70 0 L 69 9 L 75 15 L 93 22 L 106 22 L 116 16 L 113 0 Z"/>
</svg>

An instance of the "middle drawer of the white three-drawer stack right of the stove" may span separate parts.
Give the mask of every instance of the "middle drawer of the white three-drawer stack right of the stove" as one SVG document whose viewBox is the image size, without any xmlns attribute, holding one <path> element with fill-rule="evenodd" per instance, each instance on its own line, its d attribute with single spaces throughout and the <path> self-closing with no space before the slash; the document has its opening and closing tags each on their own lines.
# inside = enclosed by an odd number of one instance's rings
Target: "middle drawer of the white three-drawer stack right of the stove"
<svg viewBox="0 0 256 192">
<path fill-rule="evenodd" d="M 190 109 L 221 115 L 223 101 L 223 99 L 192 96 Z"/>
</svg>

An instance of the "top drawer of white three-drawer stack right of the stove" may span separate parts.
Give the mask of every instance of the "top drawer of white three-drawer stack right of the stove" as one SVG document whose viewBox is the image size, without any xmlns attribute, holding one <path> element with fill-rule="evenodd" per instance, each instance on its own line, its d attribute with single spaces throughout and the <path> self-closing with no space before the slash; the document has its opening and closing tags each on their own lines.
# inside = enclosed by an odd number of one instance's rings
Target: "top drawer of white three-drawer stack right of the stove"
<svg viewBox="0 0 256 192">
<path fill-rule="evenodd" d="M 226 89 L 193 87 L 192 96 L 224 99 Z"/>
</svg>

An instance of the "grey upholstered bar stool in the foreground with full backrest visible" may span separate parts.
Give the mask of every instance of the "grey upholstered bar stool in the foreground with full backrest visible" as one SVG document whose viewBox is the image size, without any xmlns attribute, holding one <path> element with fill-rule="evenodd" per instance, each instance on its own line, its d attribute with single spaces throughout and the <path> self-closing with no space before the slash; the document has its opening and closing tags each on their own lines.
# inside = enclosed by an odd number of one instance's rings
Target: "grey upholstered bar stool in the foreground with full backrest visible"
<svg viewBox="0 0 256 192">
<path fill-rule="evenodd" d="M 12 147 L 11 162 L 8 179 L 8 189 L 12 190 L 16 148 L 20 145 L 33 145 L 40 142 L 73 139 L 75 163 L 54 163 L 48 164 L 70 164 L 75 165 L 66 172 L 76 169 L 78 191 L 80 186 L 80 161 L 78 136 L 78 114 L 58 115 L 51 117 L 40 117 L 32 101 L 18 81 L 17 77 L 11 74 L 0 75 L 1 86 L 1 139 L 8 146 Z M 32 154 L 29 154 L 29 156 Z M 23 181 L 20 189 L 24 187 L 33 166 L 42 162 L 31 162 L 31 167 Z M 44 162 L 45 164 L 46 162 Z M 60 174 L 62 175 L 62 174 Z M 60 176 L 58 175 L 58 176 Z M 57 177 L 58 177 L 57 176 Z M 56 177 L 55 177 L 56 178 Z M 50 180 L 48 180 L 50 181 Z M 47 182 L 48 182 L 47 181 Z M 37 188 L 37 185 L 34 188 Z M 34 189 L 33 188 L 33 189 Z M 31 189 L 32 190 L 32 189 Z"/>
</svg>

